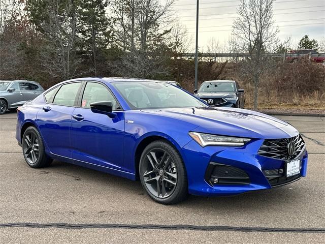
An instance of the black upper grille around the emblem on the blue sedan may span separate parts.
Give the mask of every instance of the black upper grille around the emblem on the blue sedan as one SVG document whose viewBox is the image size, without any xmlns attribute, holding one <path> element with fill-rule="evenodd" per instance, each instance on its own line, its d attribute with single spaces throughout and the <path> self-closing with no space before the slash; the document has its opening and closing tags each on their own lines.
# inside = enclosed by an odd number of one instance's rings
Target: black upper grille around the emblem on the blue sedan
<svg viewBox="0 0 325 244">
<path fill-rule="evenodd" d="M 292 155 L 288 153 L 288 144 L 290 142 L 294 144 L 294 152 Z M 305 142 L 301 135 L 285 139 L 265 140 L 261 148 L 259 148 L 258 154 L 274 159 L 289 160 L 297 158 L 304 147 Z"/>
</svg>

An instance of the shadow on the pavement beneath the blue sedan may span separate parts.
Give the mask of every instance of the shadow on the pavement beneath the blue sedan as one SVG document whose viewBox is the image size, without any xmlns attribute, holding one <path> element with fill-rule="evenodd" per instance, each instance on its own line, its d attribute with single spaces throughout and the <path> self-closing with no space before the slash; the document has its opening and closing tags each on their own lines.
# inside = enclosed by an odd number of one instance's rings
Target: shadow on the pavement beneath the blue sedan
<svg viewBox="0 0 325 244">
<path fill-rule="evenodd" d="M 39 172 L 39 174 L 60 174 L 66 177 L 70 177 L 73 180 L 78 182 L 87 181 L 89 184 L 93 184 L 95 188 L 103 188 L 105 194 L 105 189 L 114 189 L 116 192 L 127 192 L 137 199 L 139 195 L 145 201 L 145 204 L 156 204 L 158 206 L 163 206 L 153 202 L 149 197 L 146 196 L 145 191 L 142 189 L 141 182 L 132 181 L 126 178 L 115 176 L 108 173 L 103 173 L 100 171 L 54 161 L 49 168 L 45 168 Z M 304 179 L 301 179 L 302 181 Z M 248 192 L 245 194 L 240 194 L 236 196 L 223 196 L 223 197 L 202 197 L 202 196 L 193 196 L 190 195 L 188 198 L 176 205 L 168 206 L 171 208 L 189 208 L 189 209 L 204 209 L 207 208 L 213 210 L 214 212 L 223 212 L 223 211 L 238 211 L 238 210 L 249 210 L 253 209 L 254 211 L 263 210 L 267 211 L 271 208 L 280 208 L 288 206 L 292 202 L 297 202 L 305 195 L 305 190 L 307 188 L 298 189 L 299 181 L 294 182 L 293 184 L 286 185 L 279 188 L 261 190 L 255 192 Z"/>
</svg>

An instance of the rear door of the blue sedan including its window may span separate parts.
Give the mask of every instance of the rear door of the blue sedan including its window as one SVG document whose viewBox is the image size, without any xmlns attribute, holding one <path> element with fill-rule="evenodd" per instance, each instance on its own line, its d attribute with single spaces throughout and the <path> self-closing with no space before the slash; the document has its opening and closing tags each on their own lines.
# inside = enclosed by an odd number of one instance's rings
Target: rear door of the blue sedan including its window
<svg viewBox="0 0 325 244">
<path fill-rule="evenodd" d="M 44 95 L 46 104 L 38 112 L 37 120 L 44 141 L 51 153 L 72 157 L 70 130 L 82 81 L 65 83 Z"/>
</svg>

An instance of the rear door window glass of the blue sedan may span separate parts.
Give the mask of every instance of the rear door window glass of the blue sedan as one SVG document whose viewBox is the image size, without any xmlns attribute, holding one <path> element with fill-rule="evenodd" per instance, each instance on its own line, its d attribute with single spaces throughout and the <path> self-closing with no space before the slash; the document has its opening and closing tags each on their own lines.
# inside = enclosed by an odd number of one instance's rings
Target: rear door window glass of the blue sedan
<svg viewBox="0 0 325 244">
<path fill-rule="evenodd" d="M 64 106 L 74 106 L 81 82 L 62 85 L 54 97 L 53 103 Z"/>
</svg>

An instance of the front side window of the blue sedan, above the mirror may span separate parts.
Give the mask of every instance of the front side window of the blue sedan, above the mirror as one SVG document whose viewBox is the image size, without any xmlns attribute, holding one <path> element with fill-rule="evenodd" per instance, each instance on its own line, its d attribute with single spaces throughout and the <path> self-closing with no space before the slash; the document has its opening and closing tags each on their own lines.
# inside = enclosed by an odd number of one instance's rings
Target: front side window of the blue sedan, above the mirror
<svg viewBox="0 0 325 244">
<path fill-rule="evenodd" d="M 113 110 L 120 109 L 109 90 L 104 85 L 95 82 L 87 82 L 81 101 L 83 108 L 90 108 L 91 103 L 110 101 L 113 103 Z"/>
</svg>

